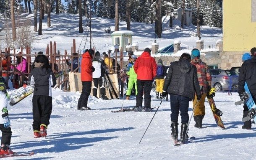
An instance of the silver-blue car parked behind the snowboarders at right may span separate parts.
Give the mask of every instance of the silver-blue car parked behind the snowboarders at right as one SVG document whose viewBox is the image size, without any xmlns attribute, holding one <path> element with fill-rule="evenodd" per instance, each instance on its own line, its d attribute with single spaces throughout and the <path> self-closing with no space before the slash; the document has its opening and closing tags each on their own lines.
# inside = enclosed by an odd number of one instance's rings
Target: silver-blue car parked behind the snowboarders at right
<svg viewBox="0 0 256 160">
<path fill-rule="evenodd" d="M 216 91 L 237 91 L 238 73 L 234 70 L 210 69 L 212 75 L 212 88 Z"/>
</svg>

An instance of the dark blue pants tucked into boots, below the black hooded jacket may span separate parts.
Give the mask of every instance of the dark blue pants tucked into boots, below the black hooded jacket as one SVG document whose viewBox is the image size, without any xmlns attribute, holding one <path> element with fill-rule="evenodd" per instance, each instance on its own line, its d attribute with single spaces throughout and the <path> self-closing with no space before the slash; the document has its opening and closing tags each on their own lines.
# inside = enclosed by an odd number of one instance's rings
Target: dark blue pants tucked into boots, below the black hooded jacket
<svg viewBox="0 0 256 160">
<path fill-rule="evenodd" d="M 180 111 L 181 123 L 188 123 L 188 105 L 190 98 L 185 96 L 180 96 L 176 94 L 170 94 L 170 102 L 171 102 L 171 121 L 178 122 L 178 116 Z"/>
</svg>

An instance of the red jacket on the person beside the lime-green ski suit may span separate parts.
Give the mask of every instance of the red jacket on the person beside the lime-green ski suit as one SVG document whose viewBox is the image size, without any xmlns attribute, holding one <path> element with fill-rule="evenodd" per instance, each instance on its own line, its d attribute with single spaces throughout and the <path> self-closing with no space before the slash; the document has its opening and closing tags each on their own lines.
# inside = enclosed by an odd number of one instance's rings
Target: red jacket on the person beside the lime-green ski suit
<svg viewBox="0 0 256 160">
<path fill-rule="evenodd" d="M 143 52 L 134 64 L 138 80 L 153 80 L 157 75 L 157 63 L 148 52 Z"/>
</svg>

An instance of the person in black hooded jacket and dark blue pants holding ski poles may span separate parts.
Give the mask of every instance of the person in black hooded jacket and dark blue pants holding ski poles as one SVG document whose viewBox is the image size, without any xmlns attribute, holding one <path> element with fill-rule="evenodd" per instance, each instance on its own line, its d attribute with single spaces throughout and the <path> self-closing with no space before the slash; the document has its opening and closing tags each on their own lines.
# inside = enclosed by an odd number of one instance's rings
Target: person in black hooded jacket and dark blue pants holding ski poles
<svg viewBox="0 0 256 160">
<path fill-rule="evenodd" d="M 165 98 L 167 93 L 170 94 L 171 103 L 171 129 L 172 138 L 178 141 L 178 116 L 181 116 L 180 141 L 188 140 L 188 105 L 189 101 L 194 98 L 195 91 L 197 100 L 201 99 L 201 91 L 197 78 L 196 66 L 190 63 L 191 56 L 183 53 L 179 61 L 170 64 L 169 71 L 165 78 L 162 97 Z"/>
</svg>

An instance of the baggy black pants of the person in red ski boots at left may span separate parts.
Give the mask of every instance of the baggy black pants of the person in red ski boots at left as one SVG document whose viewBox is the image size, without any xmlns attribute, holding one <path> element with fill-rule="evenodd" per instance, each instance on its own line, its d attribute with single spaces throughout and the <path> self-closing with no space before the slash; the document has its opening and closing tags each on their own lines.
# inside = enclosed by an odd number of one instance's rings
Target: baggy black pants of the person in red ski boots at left
<svg viewBox="0 0 256 160">
<path fill-rule="evenodd" d="M 33 130 L 39 131 L 40 125 L 50 124 L 50 116 L 52 114 L 52 97 L 34 95 L 33 103 Z"/>
</svg>

